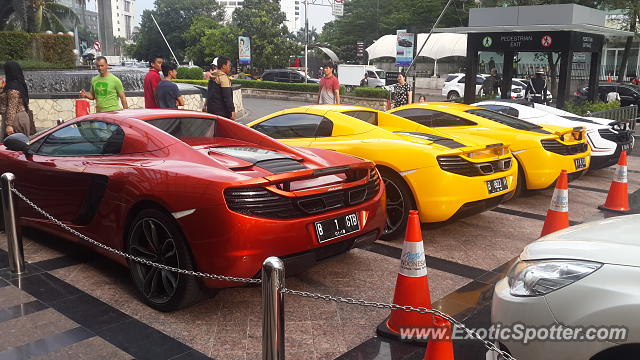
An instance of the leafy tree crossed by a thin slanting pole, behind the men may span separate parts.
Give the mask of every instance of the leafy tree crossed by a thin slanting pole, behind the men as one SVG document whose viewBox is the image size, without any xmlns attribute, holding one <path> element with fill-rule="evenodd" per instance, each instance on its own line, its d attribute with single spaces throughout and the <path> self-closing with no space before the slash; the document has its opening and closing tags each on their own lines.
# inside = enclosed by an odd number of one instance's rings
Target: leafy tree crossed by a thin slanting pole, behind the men
<svg viewBox="0 0 640 360">
<path fill-rule="evenodd" d="M 224 9 L 211 0 L 156 0 L 153 10 L 142 13 L 140 35 L 132 54 L 138 60 L 146 60 L 151 55 L 172 58 L 151 15 L 158 21 L 178 60 L 183 60 L 188 46 L 184 34 L 194 19 L 205 17 L 220 23 L 224 19 Z"/>
</svg>

